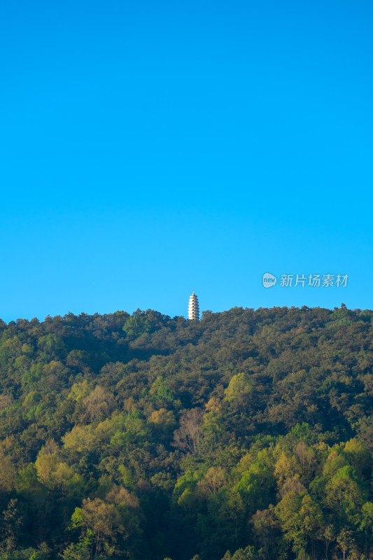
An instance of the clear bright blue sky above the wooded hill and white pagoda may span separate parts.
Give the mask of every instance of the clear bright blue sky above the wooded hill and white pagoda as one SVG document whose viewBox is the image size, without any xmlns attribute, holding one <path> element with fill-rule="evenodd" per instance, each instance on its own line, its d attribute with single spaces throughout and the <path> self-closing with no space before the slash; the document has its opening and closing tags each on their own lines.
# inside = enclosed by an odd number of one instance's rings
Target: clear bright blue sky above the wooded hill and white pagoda
<svg viewBox="0 0 373 560">
<path fill-rule="evenodd" d="M 372 27 L 359 0 L 3 2 L 0 317 L 372 308 Z"/>
</svg>

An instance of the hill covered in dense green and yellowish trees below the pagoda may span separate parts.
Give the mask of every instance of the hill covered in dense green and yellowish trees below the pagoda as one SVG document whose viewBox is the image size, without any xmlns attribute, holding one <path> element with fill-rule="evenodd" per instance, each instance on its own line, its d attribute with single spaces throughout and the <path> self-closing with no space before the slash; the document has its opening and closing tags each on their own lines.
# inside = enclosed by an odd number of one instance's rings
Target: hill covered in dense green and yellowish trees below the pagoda
<svg viewBox="0 0 373 560">
<path fill-rule="evenodd" d="M 1 322 L 0 559 L 372 559 L 372 318 Z"/>
</svg>

